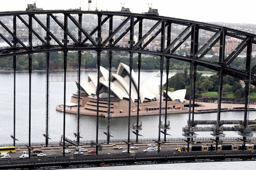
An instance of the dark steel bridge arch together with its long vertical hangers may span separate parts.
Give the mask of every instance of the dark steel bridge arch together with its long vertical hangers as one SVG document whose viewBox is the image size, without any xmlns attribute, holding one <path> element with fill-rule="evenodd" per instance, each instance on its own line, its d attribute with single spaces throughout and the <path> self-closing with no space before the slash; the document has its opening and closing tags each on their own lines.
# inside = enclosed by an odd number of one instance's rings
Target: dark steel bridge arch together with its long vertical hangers
<svg viewBox="0 0 256 170">
<path fill-rule="evenodd" d="M 96 22 L 88 22 L 86 17 L 94 16 Z M 6 24 L 6 18 L 10 18 L 12 22 L 9 27 Z M 86 22 L 85 22 L 86 21 Z M 52 25 L 54 23 L 54 26 Z M 151 27 L 143 27 L 145 23 L 151 23 Z M 22 24 L 27 29 L 27 41 L 22 35 L 19 34 L 18 24 Z M 163 61 L 166 59 L 166 72 L 167 77 L 169 74 L 169 64 L 170 59 L 178 59 L 190 63 L 190 98 L 189 104 L 192 107 L 189 107 L 189 121 L 188 126 L 183 129 L 184 136 L 187 137 L 187 142 L 190 143 L 191 139 L 196 137 L 195 131 L 199 130 L 196 128 L 197 124 L 214 124 L 214 127 L 210 129 L 213 131 L 214 137 L 216 137 L 216 143 L 219 143 L 219 137 L 223 137 L 223 130 L 228 130 L 222 127 L 223 122 L 220 119 L 220 106 L 221 106 L 221 92 L 222 92 L 222 77 L 224 75 L 230 75 L 236 77 L 240 80 L 245 81 L 245 94 L 246 98 L 249 95 L 250 85 L 256 85 L 255 73 L 256 65 L 251 65 L 252 60 L 252 49 L 255 45 L 256 35 L 251 33 L 246 33 L 243 31 L 219 26 L 212 25 L 208 23 L 182 20 L 177 18 L 163 17 L 158 16 L 154 13 L 145 13 L 145 14 L 135 14 L 130 13 L 129 11 L 123 12 L 112 12 L 112 11 L 81 11 L 81 10 L 41 10 L 38 11 L 15 11 L 15 12 L 1 12 L 0 13 L 0 25 L 3 32 L 0 33 L 1 40 L 6 42 L 8 45 L 0 50 L 0 58 L 4 57 L 13 57 L 13 67 L 14 72 L 16 70 L 16 57 L 19 55 L 28 55 L 29 60 L 29 74 L 30 74 L 30 90 L 31 90 L 31 71 L 32 71 L 32 54 L 34 53 L 46 53 L 46 65 L 47 65 L 47 90 L 46 90 L 46 133 L 45 141 L 46 145 L 48 144 L 49 134 L 48 134 L 48 111 L 49 111 L 49 56 L 50 52 L 62 51 L 64 56 L 64 96 L 66 91 L 66 70 L 67 70 L 67 52 L 68 51 L 78 51 L 78 84 L 80 84 L 80 67 L 81 67 L 81 54 L 82 51 L 96 51 L 97 52 L 97 65 L 100 65 L 100 57 L 102 51 L 109 52 L 109 73 L 111 68 L 112 61 L 112 52 L 113 51 L 125 51 L 130 55 L 130 69 L 132 69 L 132 57 L 133 54 L 138 54 L 138 70 L 140 72 L 141 64 L 141 54 L 151 54 L 159 56 L 161 58 L 161 75 L 163 74 Z M 37 27 L 39 25 L 41 32 L 44 32 L 44 35 L 39 35 Z M 55 33 L 55 25 L 59 29 L 59 34 Z M 88 25 L 93 25 L 93 28 L 88 31 L 84 27 Z M 172 36 L 172 26 L 178 25 L 183 28 L 183 31 L 179 35 L 173 38 Z M 70 31 L 70 27 L 75 27 L 75 31 Z M 207 31 L 211 33 L 211 37 L 208 38 L 206 43 L 203 46 L 200 46 L 200 37 L 202 31 Z M 5 33 L 5 34 L 4 34 Z M 128 46 L 122 43 L 122 39 L 126 38 L 128 40 Z M 237 39 L 239 41 L 238 45 L 231 50 L 227 51 L 226 43 L 227 37 L 230 39 Z M 152 50 L 148 48 L 148 45 L 156 40 L 160 40 L 159 48 Z M 40 43 L 38 43 L 40 42 Z M 178 55 L 179 48 L 184 47 L 184 43 L 190 44 L 190 54 L 187 56 Z M 204 60 L 204 56 L 207 52 L 218 46 L 217 49 L 219 53 L 219 59 L 215 62 L 209 62 Z M 230 49 L 230 48 L 229 48 Z M 230 64 L 241 54 L 243 51 L 246 53 L 246 68 L 244 70 L 237 70 L 230 67 Z M 218 111 L 217 111 L 217 120 L 209 122 L 200 122 L 194 120 L 194 89 L 196 81 L 196 72 L 197 66 L 203 66 L 218 72 L 219 75 L 219 95 L 218 95 Z M 130 70 L 131 74 L 131 70 Z M 15 76 L 15 74 L 14 74 Z M 109 74 L 110 76 L 110 74 Z M 131 76 L 131 75 L 130 75 Z M 140 81 L 140 77 L 139 77 Z M 168 82 L 168 81 L 167 81 Z M 99 67 L 98 67 L 98 83 L 99 83 Z M 130 81 L 131 87 L 131 81 Z M 162 87 L 162 80 L 161 80 Z M 139 89 L 139 87 L 138 87 Z M 162 91 L 162 88 L 160 89 Z M 14 86 L 15 91 L 15 86 Z M 99 91 L 97 91 L 97 95 Z M 14 94 L 15 95 L 15 94 Z M 80 96 L 80 86 L 78 85 L 78 98 Z M 161 95 L 160 95 L 161 96 Z M 138 95 L 139 98 L 139 95 Z M 162 98 L 160 97 L 160 100 Z M 111 101 L 108 101 L 110 104 Z M 64 97 L 64 107 L 66 99 Z M 98 102 L 99 103 L 99 102 Z M 248 100 L 245 102 L 245 113 L 244 120 L 241 120 L 239 123 L 244 125 L 239 127 L 239 131 L 243 136 L 244 143 L 247 142 L 246 138 L 252 136 L 251 131 L 255 130 L 254 127 L 247 127 L 248 124 L 255 124 L 255 121 L 247 120 L 247 104 Z M 29 105 L 31 105 L 31 94 L 29 99 Z M 80 106 L 80 100 L 78 99 L 78 106 Z M 130 106 L 130 100 L 129 100 Z M 139 105 L 138 105 L 139 106 Z M 167 106 L 167 105 L 166 105 Z M 14 106 L 15 107 L 15 106 Z M 97 105 L 98 107 L 98 105 Z M 79 107 L 78 107 L 79 108 Z M 109 106 L 110 108 L 110 106 Z M 160 102 L 161 108 L 161 102 Z M 129 107 L 130 109 L 130 107 Z M 160 116 L 161 116 L 161 109 Z M 166 111 L 167 109 L 165 109 Z M 137 109 L 137 112 L 139 109 Z M 30 112 L 30 110 L 29 110 Z M 79 143 L 80 138 L 80 110 L 78 109 L 78 122 L 77 122 L 77 137 L 76 143 Z M 130 112 L 130 110 L 129 110 Z M 108 110 L 110 113 L 110 110 Z M 14 109 L 15 115 L 15 109 Z M 166 115 L 166 112 L 165 112 Z M 191 117 L 192 116 L 192 117 Z M 29 113 L 30 119 L 30 113 Z M 130 119 L 129 119 L 130 121 Z M 237 123 L 237 121 L 229 121 L 228 124 L 232 122 Z M 234 124 L 235 124 L 234 123 Z M 14 120 L 15 124 L 15 120 Z M 129 122 L 130 124 L 130 122 Z M 106 132 L 107 138 L 110 138 L 109 131 L 109 116 L 108 116 L 108 132 Z M 97 122 L 98 126 L 98 122 Z M 64 126 L 63 126 L 63 139 L 65 137 L 65 109 L 64 109 Z M 136 136 L 138 139 L 140 124 L 138 122 L 135 127 Z M 163 131 L 160 130 L 163 129 Z M 129 128 L 130 129 L 130 128 Z M 161 118 L 159 117 L 159 139 L 160 132 L 165 135 L 169 124 L 165 119 L 165 123 L 161 124 Z M 196 130 L 197 129 L 197 130 Z M 98 129 L 97 129 L 98 130 Z M 207 129 L 200 129 L 208 131 Z M 233 129 L 234 130 L 234 129 Z M 128 130 L 129 133 L 129 130 Z M 98 134 L 98 131 L 97 131 Z M 129 136 L 129 135 L 128 135 Z M 15 127 L 14 135 L 15 145 Z M 97 150 L 100 149 L 100 145 L 97 143 Z M 72 142 L 72 141 L 71 141 Z M 157 141 L 160 143 L 160 140 Z M 129 138 L 128 138 L 128 150 L 129 150 Z M 65 147 L 65 146 L 63 146 Z M 30 146 L 30 129 L 29 129 L 29 149 Z M 30 152 L 29 152 L 30 153 Z M 63 153 L 65 154 L 65 153 Z"/>
</svg>

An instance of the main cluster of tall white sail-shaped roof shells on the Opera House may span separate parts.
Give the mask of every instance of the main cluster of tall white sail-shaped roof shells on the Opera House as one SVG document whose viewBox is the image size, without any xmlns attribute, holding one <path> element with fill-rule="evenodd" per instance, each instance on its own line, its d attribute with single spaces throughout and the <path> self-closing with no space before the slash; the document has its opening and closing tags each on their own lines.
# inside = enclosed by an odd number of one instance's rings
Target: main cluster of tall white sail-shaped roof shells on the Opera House
<svg viewBox="0 0 256 170">
<path fill-rule="evenodd" d="M 129 83 L 130 83 L 130 68 L 126 64 L 120 63 L 116 74 L 111 74 L 111 91 L 116 97 L 123 100 L 129 99 Z M 108 70 L 100 67 L 100 83 L 108 87 Z M 88 74 L 88 82 L 81 81 L 81 87 L 88 95 L 95 95 L 97 90 L 97 76 Z M 99 86 L 102 87 L 102 86 Z M 100 91 L 100 89 L 99 89 Z M 131 85 L 131 101 L 138 100 L 138 77 L 132 70 L 132 85 Z M 186 93 L 186 91 L 185 91 Z M 170 93 L 168 93 L 169 95 Z M 172 94 L 170 94 L 172 96 Z M 140 103 L 145 100 L 159 99 L 159 85 L 155 80 L 148 80 L 140 85 Z M 173 98 L 173 97 L 172 97 Z M 175 99 L 174 99 L 175 100 Z"/>
</svg>

